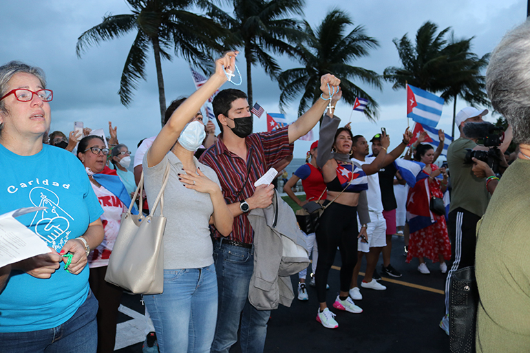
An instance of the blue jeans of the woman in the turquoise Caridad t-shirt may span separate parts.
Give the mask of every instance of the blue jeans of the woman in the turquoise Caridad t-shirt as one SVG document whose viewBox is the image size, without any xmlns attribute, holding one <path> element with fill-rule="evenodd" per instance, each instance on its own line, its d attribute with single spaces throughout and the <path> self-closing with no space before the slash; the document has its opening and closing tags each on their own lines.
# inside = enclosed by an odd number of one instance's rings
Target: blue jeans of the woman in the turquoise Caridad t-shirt
<svg viewBox="0 0 530 353">
<path fill-rule="evenodd" d="M 98 301 L 90 290 L 74 316 L 56 328 L 0 332 L 0 350 L 4 353 L 95 353 L 98 347 L 97 312 Z"/>
</svg>

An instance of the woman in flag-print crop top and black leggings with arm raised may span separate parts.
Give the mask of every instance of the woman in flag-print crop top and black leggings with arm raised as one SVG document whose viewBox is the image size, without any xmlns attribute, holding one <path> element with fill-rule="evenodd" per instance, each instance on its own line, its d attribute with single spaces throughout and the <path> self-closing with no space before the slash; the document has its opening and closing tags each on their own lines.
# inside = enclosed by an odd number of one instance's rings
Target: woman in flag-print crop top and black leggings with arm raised
<svg viewBox="0 0 530 353">
<path fill-rule="evenodd" d="M 331 105 L 335 106 L 341 96 L 339 89 L 339 92 L 332 96 Z M 370 216 L 366 193 L 363 192 L 368 189 L 366 174 L 350 161 L 352 131 L 346 127 L 337 129 L 340 119 L 330 114 L 332 113 L 328 110 L 320 127 L 317 156 L 317 165 L 324 175 L 328 194 L 324 202 L 326 210 L 321 215 L 317 228 L 319 260 L 315 279 L 320 303 L 317 321 L 325 328 L 337 328 L 339 324 L 334 319 L 335 314 L 330 312 L 326 303 L 328 272 L 338 246 L 342 259 L 341 286 L 333 307 L 353 313 L 362 312 L 363 310 L 353 303 L 349 291 L 353 268 L 357 262 L 357 238 L 368 240 L 366 223 L 370 222 Z M 363 224 L 360 233 L 357 228 L 357 211 Z"/>
</svg>

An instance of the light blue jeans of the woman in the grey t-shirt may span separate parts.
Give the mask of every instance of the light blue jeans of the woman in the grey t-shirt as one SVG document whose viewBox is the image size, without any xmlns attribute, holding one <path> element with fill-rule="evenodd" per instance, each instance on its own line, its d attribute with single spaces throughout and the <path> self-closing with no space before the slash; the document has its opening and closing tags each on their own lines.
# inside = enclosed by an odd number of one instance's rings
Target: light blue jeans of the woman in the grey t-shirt
<svg viewBox="0 0 530 353">
<path fill-rule="evenodd" d="M 218 302 L 215 266 L 164 270 L 164 292 L 144 295 L 161 353 L 210 352 Z"/>
</svg>

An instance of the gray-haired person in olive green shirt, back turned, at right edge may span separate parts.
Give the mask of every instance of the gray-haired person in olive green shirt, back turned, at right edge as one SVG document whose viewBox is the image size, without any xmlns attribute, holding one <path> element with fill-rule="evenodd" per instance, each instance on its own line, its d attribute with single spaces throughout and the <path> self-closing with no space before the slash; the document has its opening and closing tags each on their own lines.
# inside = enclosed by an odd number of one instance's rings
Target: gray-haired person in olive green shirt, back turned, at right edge
<svg viewBox="0 0 530 353">
<path fill-rule="evenodd" d="M 530 350 L 530 21 L 508 32 L 491 54 L 489 99 L 513 127 L 518 159 L 498 183 L 478 224 L 477 352 Z"/>
</svg>

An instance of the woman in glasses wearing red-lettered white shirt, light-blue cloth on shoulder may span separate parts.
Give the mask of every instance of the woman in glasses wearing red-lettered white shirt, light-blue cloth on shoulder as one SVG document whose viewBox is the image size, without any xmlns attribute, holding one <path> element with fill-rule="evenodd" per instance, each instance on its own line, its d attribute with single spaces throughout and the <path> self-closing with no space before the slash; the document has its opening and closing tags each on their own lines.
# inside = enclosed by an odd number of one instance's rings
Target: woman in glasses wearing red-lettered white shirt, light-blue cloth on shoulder
<svg viewBox="0 0 530 353">
<path fill-rule="evenodd" d="M 92 189 L 104 211 L 101 220 L 105 237 L 88 256 L 90 288 L 99 301 L 98 353 L 114 352 L 116 321 L 123 289 L 105 281 L 105 275 L 120 230 L 121 215 L 131 204 L 125 185 L 116 171 L 106 165 L 108 154 L 109 150 L 100 136 L 87 136 L 79 141 L 77 156 L 85 166 Z"/>
</svg>

